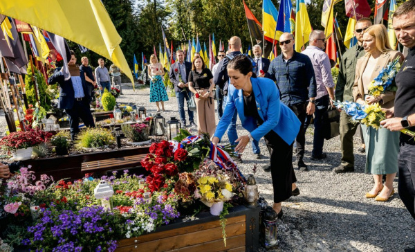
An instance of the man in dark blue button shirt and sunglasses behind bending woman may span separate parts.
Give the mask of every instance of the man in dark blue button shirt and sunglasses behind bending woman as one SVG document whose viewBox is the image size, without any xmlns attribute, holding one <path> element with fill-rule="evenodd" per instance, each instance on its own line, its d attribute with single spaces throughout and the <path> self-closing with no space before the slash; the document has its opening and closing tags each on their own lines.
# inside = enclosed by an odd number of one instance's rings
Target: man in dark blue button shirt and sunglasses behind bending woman
<svg viewBox="0 0 415 252">
<path fill-rule="evenodd" d="M 304 163 L 306 136 L 304 121 L 306 115 L 315 111 L 316 83 L 313 64 L 307 55 L 294 51 L 294 37 L 283 33 L 279 38 L 282 54 L 271 62 L 266 77 L 277 83 L 281 101 L 294 111 L 301 122 L 297 141 L 297 165 L 299 170 L 308 170 Z"/>
</svg>

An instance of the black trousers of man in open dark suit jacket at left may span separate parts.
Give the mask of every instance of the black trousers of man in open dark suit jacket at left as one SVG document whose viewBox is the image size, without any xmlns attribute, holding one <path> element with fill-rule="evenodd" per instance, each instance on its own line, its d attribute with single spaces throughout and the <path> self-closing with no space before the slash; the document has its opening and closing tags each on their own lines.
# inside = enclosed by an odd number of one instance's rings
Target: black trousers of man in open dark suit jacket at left
<svg viewBox="0 0 415 252">
<path fill-rule="evenodd" d="M 75 100 L 72 109 L 65 109 L 68 114 L 69 125 L 71 127 L 71 138 L 75 140 L 75 136 L 80 132 L 80 118 L 86 127 L 95 127 L 89 102 L 86 100 Z"/>
</svg>

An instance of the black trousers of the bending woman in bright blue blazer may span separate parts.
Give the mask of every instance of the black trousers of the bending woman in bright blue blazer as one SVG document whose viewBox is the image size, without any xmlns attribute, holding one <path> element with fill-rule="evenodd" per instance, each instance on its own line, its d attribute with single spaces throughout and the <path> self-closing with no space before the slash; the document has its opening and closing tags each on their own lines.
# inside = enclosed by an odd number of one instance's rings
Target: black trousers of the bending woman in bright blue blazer
<svg viewBox="0 0 415 252">
<path fill-rule="evenodd" d="M 291 197 L 291 184 L 297 182 L 292 163 L 293 144 L 288 145 L 273 130 L 268 132 L 264 139 L 271 156 L 274 202 L 279 203 Z"/>
</svg>

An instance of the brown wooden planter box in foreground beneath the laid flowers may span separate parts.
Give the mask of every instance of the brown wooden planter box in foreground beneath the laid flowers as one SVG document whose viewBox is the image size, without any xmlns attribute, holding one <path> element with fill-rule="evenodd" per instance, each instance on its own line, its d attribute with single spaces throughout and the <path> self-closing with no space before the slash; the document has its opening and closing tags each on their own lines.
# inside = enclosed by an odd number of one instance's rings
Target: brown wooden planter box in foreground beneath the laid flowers
<svg viewBox="0 0 415 252">
<path fill-rule="evenodd" d="M 226 247 L 219 217 L 204 212 L 196 215 L 198 219 L 178 219 L 154 233 L 120 240 L 116 251 L 258 251 L 260 208 L 236 206 L 228 210 Z"/>
</svg>

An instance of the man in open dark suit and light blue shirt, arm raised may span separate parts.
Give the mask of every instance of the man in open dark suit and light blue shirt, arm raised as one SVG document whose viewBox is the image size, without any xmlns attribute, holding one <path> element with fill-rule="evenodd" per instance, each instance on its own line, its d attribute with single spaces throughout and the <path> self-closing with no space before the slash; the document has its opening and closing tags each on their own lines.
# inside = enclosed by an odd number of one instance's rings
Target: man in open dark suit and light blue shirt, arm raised
<svg viewBox="0 0 415 252">
<path fill-rule="evenodd" d="M 71 51 L 71 60 L 68 66 L 76 63 L 75 53 Z M 59 84 L 59 109 L 65 109 L 69 117 L 69 124 L 71 127 L 71 138 L 75 139 L 76 134 L 80 131 L 80 119 L 84 122 L 86 127 L 95 127 L 93 122 L 91 110 L 89 109 L 89 102 L 91 94 L 85 84 L 84 73 L 73 73 L 73 75 L 65 78 L 62 69 L 56 69 L 55 73 L 49 77 L 49 84 Z"/>
</svg>

